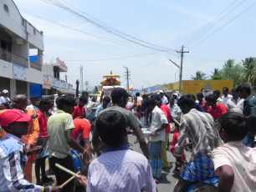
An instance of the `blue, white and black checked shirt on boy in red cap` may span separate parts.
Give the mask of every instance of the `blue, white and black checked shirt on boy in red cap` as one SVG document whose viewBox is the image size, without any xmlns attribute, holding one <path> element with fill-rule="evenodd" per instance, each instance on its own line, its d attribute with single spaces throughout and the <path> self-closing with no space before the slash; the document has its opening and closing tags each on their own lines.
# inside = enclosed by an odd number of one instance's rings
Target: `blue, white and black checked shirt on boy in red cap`
<svg viewBox="0 0 256 192">
<path fill-rule="evenodd" d="M 13 134 L 6 134 L 0 141 L 0 191 L 42 191 L 42 186 L 31 184 L 25 178 L 28 159 L 24 145 L 22 139 Z"/>
</svg>

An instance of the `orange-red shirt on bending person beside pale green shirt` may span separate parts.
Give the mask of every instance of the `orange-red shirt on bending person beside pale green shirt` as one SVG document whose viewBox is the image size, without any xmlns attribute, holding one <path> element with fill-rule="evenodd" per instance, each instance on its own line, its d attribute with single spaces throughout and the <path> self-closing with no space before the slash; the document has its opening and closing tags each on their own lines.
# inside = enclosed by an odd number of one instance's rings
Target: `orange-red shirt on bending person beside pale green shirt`
<svg viewBox="0 0 256 192">
<path fill-rule="evenodd" d="M 74 119 L 73 136 L 78 142 L 80 139 L 90 138 L 90 123 L 86 119 Z"/>
</svg>

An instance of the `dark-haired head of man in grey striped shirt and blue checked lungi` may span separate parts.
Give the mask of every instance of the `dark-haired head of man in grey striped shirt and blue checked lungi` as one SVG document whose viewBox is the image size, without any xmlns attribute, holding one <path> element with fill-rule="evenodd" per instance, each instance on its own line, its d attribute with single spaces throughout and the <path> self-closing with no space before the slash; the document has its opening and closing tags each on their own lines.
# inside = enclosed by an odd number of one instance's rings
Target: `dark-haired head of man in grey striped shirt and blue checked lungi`
<svg viewBox="0 0 256 192">
<path fill-rule="evenodd" d="M 177 105 L 180 107 L 183 114 L 187 114 L 191 109 L 196 108 L 195 101 L 191 94 L 182 95 L 182 97 L 178 99 Z"/>
</svg>

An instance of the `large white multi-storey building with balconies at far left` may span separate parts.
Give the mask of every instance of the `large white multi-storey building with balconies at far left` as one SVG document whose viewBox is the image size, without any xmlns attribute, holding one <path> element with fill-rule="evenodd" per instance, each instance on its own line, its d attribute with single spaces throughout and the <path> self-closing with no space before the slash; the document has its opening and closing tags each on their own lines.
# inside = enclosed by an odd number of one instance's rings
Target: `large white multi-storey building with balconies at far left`
<svg viewBox="0 0 256 192">
<path fill-rule="evenodd" d="M 22 17 L 13 0 L 0 1 L 0 91 L 8 89 L 10 98 L 30 94 L 30 86 L 43 85 L 44 35 Z M 29 56 L 38 61 L 30 62 Z"/>
</svg>

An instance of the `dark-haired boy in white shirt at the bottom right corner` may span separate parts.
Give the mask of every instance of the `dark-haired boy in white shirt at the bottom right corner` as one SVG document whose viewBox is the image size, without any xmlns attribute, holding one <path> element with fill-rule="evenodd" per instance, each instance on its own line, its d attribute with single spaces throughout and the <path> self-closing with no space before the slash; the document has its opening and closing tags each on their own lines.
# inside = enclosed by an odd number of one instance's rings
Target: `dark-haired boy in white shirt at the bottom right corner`
<svg viewBox="0 0 256 192">
<path fill-rule="evenodd" d="M 219 119 L 222 144 L 212 151 L 219 192 L 248 192 L 256 189 L 256 149 L 241 140 L 248 133 L 243 114 L 228 112 Z"/>
</svg>

